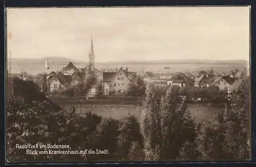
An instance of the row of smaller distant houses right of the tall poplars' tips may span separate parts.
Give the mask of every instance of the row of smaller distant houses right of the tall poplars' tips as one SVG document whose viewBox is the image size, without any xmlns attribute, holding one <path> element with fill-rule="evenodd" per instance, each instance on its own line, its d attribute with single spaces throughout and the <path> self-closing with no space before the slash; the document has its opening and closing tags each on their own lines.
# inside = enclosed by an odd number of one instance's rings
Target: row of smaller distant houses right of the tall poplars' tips
<svg viewBox="0 0 256 167">
<path fill-rule="evenodd" d="M 188 73 L 169 73 L 153 74 L 152 72 L 144 73 L 144 80 L 158 87 L 176 85 L 178 87 L 195 86 L 195 87 L 218 87 L 220 90 L 229 92 L 237 90 L 241 83 L 246 79 L 246 71 L 236 71 L 224 75 L 222 73 L 201 72 L 200 74 Z"/>
</svg>

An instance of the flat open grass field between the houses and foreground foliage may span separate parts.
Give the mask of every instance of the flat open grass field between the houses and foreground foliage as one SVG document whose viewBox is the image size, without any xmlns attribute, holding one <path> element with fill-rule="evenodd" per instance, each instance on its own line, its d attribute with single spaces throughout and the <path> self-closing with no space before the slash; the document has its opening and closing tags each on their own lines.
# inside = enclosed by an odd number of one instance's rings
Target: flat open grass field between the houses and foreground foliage
<svg viewBox="0 0 256 167">
<path fill-rule="evenodd" d="M 129 114 L 134 115 L 140 119 L 142 106 L 139 105 L 59 105 L 65 110 L 70 110 L 72 106 L 76 108 L 76 113 L 84 115 L 88 112 L 105 117 L 121 120 L 127 117 Z M 191 117 L 195 122 L 211 121 L 219 112 L 224 112 L 222 107 L 209 107 L 207 104 L 187 104 Z"/>
</svg>

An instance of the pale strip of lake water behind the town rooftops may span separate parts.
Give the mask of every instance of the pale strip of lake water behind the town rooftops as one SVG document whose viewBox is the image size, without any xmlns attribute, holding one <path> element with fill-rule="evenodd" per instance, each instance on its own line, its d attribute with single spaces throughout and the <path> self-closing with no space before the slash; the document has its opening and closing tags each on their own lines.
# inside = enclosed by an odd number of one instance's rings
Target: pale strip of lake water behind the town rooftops
<svg viewBox="0 0 256 167">
<path fill-rule="evenodd" d="M 12 64 L 12 73 L 20 73 L 20 71 L 27 71 L 29 74 L 36 75 L 38 73 L 50 73 L 51 71 L 61 70 L 63 67 L 66 67 L 68 63 L 59 63 L 59 64 L 50 64 L 50 69 L 46 69 L 44 62 L 38 63 L 13 63 Z M 84 64 L 75 64 L 77 68 L 84 68 Z M 116 69 L 116 68 L 128 68 L 129 71 L 152 71 L 155 73 L 159 72 L 192 72 L 198 70 L 209 70 L 212 68 L 214 71 L 222 71 L 222 72 L 229 72 L 230 70 L 234 70 L 236 68 L 243 69 L 244 65 L 217 65 L 217 64 L 120 64 L 120 65 L 95 65 L 95 68 L 98 70 L 101 69 Z M 169 67 L 170 69 L 164 69 L 164 67 Z M 8 69 L 9 70 L 9 69 Z"/>
</svg>

